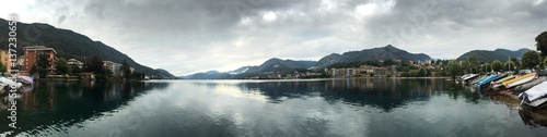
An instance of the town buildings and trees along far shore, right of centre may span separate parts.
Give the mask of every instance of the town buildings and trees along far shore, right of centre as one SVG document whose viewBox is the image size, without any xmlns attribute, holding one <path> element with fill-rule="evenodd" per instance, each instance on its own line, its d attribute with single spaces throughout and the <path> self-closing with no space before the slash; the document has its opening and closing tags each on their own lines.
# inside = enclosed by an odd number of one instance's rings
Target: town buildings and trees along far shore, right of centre
<svg viewBox="0 0 547 137">
<path fill-rule="evenodd" d="M 510 58 L 510 57 L 508 57 Z M 266 76 L 251 76 L 248 79 L 294 79 L 294 78 L 349 78 L 349 77 L 450 77 L 463 75 L 465 73 L 493 73 L 498 71 L 515 71 L 524 68 L 521 66 L 521 58 L 512 58 L 501 63 L 501 61 L 480 62 L 476 54 L 468 60 L 427 60 L 427 61 L 401 61 L 389 59 L 386 61 L 369 61 L 361 63 L 334 64 L 330 68 L 322 72 L 299 72 L 289 74 L 276 74 L 267 72 Z M 516 63 L 515 63 L 516 62 Z M 452 72 L 451 72 L 452 71 Z"/>
</svg>

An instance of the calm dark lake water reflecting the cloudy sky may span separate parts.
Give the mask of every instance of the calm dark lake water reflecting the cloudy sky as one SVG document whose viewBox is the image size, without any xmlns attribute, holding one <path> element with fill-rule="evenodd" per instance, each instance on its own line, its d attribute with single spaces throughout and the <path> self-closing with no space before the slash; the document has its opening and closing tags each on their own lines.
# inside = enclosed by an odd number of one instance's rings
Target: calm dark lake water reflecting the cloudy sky
<svg viewBox="0 0 547 137">
<path fill-rule="evenodd" d="M 547 115 L 444 79 L 38 83 L 0 103 L 33 136 L 547 136 Z"/>
</svg>

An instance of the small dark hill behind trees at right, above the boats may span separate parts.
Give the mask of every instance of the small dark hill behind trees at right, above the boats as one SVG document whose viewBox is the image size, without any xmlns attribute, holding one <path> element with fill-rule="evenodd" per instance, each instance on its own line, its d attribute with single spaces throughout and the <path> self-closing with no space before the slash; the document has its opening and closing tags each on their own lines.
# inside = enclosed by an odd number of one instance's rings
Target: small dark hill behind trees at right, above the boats
<svg viewBox="0 0 547 137">
<path fill-rule="evenodd" d="M 529 49 L 523 48 L 515 51 L 507 50 L 507 49 L 496 49 L 496 50 L 472 50 L 466 52 L 457 58 L 457 60 L 466 60 L 468 57 L 476 55 L 480 62 L 493 62 L 494 60 L 499 60 L 501 62 L 507 62 L 510 60 L 509 58 L 521 58 L 524 52 Z"/>
</svg>

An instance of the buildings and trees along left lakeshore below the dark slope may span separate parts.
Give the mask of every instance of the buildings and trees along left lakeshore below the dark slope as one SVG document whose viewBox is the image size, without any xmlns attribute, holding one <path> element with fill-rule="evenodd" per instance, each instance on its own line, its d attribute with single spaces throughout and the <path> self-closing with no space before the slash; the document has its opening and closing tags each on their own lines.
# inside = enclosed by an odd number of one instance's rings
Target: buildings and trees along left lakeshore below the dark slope
<svg viewBox="0 0 547 137">
<path fill-rule="evenodd" d="M 23 55 L 18 57 L 16 66 L 12 66 L 10 52 L 0 50 L 1 72 L 18 68 L 18 75 L 31 76 L 44 80 L 125 80 L 150 79 L 130 67 L 126 62 L 103 61 L 92 57 L 91 61 L 59 58 L 54 48 L 45 46 L 23 47 Z"/>
</svg>

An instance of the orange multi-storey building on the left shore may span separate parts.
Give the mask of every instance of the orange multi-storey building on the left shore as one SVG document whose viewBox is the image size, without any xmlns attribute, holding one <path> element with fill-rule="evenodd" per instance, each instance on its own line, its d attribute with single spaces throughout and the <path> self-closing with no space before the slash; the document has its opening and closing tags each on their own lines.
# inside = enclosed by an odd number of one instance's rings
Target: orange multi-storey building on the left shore
<svg viewBox="0 0 547 137">
<path fill-rule="evenodd" d="M 57 51 L 54 48 L 46 48 L 44 46 L 23 47 L 24 71 L 31 71 L 34 63 L 38 61 L 39 54 L 46 54 L 49 64 L 47 71 L 55 72 L 55 64 L 57 63 Z"/>
</svg>

